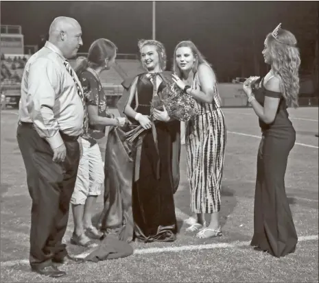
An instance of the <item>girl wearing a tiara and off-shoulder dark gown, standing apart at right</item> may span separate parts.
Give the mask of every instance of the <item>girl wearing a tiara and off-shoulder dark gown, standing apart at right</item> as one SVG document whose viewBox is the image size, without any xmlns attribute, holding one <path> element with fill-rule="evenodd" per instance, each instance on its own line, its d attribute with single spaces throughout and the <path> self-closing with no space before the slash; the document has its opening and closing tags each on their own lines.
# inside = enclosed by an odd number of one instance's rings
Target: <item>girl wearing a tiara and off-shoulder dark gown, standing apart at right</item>
<svg viewBox="0 0 319 283">
<path fill-rule="evenodd" d="M 276 27 L 265 39 L 262 52 L 270 72 L 261 81 L 244 82 L 262 131 L 251 245 L 276 257 L 294 252 L 298 241 L 285 193 L 287 158 L 296 140 L 287 112 L 288 106 L 298 106 L 300 56 L 296 43 L 291 32 L 281 29 L 281 25 Z M 257 82 L 259 87 L 252 90 Z"/>
</svg>

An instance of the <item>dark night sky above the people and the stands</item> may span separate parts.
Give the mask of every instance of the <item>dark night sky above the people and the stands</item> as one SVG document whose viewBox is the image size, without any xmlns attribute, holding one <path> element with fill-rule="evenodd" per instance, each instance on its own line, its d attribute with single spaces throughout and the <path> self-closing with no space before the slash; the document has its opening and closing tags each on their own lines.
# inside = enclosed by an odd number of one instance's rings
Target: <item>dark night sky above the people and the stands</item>
<svg viewBox="0 0 319 283">
<path fill-rule="evenodd" d="M 137 40 L 152 36 L 151 1 L 1 1 L 1 24 L 21 25 L 25 45 L 38 44 L 56 16 L 71 16 L 82 25 L 80 52 L 104 37 L 119 53 L 137 53 Z M 314 60 L 317 1 L 156 1 L 156 39 L 164 43 L 167 58 L 180 40 L 190 39 L 217 75 L 234 76 L 242 62 L 250 71 L 252 48 L 261 60 L 263 40 L 279 23 L 296 35 L 307 69 Z"/>
</svg>

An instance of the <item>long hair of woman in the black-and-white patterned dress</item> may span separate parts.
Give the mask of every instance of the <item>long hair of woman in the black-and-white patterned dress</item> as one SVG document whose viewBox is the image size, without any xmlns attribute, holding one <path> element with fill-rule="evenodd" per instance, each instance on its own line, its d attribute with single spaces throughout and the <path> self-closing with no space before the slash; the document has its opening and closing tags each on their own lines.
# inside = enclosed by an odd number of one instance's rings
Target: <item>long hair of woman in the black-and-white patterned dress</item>
<svg viewBox="0 0 319 283">
<path fill-rule="evenodd" d="M 193 53 L 193 56 L 196 59 L 196 61 L 193 64 L 193 73 L 196 73 L 198 71 L 198 66 L 200 66 L 200 64 L 205 64 L 205 65 L 209 66 L 209 68 L 211 69 L 211 71 L 213 72 L 213 75 L 215 77 L 215 86 L 214 86 L 214 88 L 216 90 L 215 97 L 217 98 L 218 102 L 221 103 L 222 99 L 220 98 L 220 94 L 217 91 L 217 78 L 216 78 L 215 72 L 213 70 L 213 67 L 211 66 L 211 64 L 209 64 L 209 62 L 206 61 L 206 59 L 204 58 L 202 53 L 200 53 L 200 51 L 198 50 L 198 48 L 196 47 L 196 45 L 192 41 L 185 40 L 185 41 L 179 42 L 178 45 L 176 45 L 176 47 L 174 49 L 173 72 L 176 73 L 176 75 L 178 75 L 179 78 L 182 78 L 182 72 L 180 71 L 180 68 L 178 67 L 178 64 L 176 62 L 176 51 L 180 47 L 189 47 L 191 49 L 191 52 Z"/>
</svg>

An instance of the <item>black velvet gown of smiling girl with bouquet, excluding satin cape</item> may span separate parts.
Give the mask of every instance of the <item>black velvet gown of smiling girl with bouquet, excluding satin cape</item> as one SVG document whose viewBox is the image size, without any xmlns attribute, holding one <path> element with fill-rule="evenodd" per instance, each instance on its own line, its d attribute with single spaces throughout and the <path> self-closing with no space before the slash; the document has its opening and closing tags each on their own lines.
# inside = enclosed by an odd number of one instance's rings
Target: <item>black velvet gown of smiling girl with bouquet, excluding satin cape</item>
<svg viewBox="0 0 319 283">
<path fill-rule="evenodd" d="M 162 82 L 158 92 L 164 86 L 165 83 Z M 146 75 L 139 76 L 137 95 L 137 112 L 150 115 L 153 84 Z M 143 242 L 174 241 L 177 232 L 170 123 L 156 121 L 155 127 L 158 151 L 152 130 L 147 130 L 141 147 L 139 180 L 134 182 L 132 190 L 134 234 Z"/>
</svg>

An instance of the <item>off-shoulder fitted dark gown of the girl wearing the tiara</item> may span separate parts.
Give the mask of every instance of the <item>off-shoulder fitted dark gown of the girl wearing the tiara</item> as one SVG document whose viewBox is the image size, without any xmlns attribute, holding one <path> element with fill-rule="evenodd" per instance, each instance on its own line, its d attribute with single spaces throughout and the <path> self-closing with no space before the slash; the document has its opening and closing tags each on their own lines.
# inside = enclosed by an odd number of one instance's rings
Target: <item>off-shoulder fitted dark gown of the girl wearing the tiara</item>
<svg viewBox="0 0 319 283">
<path fill-rule="evenodd" d="M 288 118 L 287 106 L 281 93 L 266 90 L 261 82 L 255 97 L 263 106 L 265 96 L 280 98 L 274 122 L 259 119 L 263 132 L 257 157 L 254 235 L 251 245 L 280 257 L 296 249 L 298 237 L 292 212 L 285 193 L 287 158 L 294 147 L 296 132 Z"/>
</svg>

